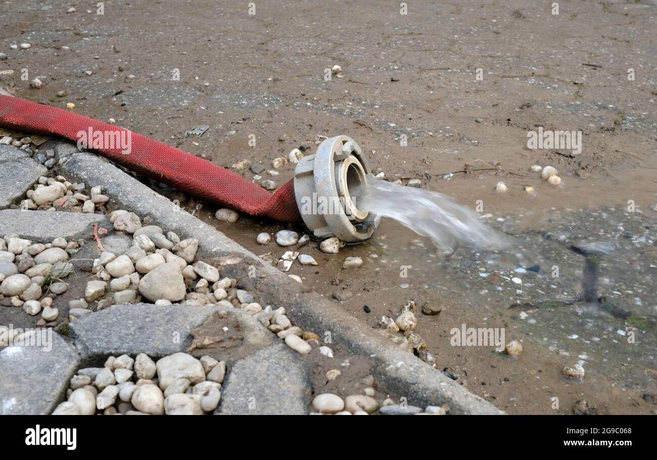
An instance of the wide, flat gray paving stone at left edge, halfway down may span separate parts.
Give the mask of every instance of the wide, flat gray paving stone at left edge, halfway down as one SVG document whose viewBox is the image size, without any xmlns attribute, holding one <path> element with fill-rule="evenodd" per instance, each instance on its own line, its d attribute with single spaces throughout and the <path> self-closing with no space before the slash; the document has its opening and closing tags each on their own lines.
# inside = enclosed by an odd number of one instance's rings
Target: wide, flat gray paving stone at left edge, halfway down
<svg viewBox="0 0 657 460">
<path fill-rule="evenodd" d="M 0 211 L 0 235 L 18 233 L 21 238 L 35 242 L 51 242 L 55 238 L 88 239 L 93 235 L 92 224 L 112 230 L 114 226 L 102 214 L 81 214 L 64 211 Z"/>
</svg>

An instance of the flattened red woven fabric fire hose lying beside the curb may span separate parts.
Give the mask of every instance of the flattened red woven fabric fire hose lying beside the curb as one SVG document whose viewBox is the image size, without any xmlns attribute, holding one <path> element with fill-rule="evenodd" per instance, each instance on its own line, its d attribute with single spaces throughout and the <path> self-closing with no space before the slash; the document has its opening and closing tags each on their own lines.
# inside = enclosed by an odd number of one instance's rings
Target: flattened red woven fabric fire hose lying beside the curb
<svg viewBox="0 0 657 460">
<path fill-rule="evenodd" d="M 115 133 L 126 131 L 60 108 L 0 95 L 0 126 L 16 131 L 58 135 L 77 142 L 79 131 Z M 273 195 L 221 166 L 143 135 L 131 133 L 129 154 L 122 148 L 94 148 L 102 156 L 203 200 L 231 209 L 279 221 L 301 219 L 290 180 Z M 125 134 L 124 134 L 125 137 Z"/>
</svg>

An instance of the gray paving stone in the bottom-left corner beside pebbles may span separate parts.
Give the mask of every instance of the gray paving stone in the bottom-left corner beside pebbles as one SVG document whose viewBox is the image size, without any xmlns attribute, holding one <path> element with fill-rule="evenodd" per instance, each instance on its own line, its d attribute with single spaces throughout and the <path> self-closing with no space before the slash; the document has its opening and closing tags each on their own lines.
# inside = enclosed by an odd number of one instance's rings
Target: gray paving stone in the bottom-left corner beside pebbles
<svg viewBox="0 0 657 460">
<path fill-rule="evenodd" d="M 0 351 L 1 415 L 46 415 L 66 397 L 79 366 L 78 352 L 52 329 L 43 331 L 51 334 L 50 350 L 8 346 Z"/>
</svg>

